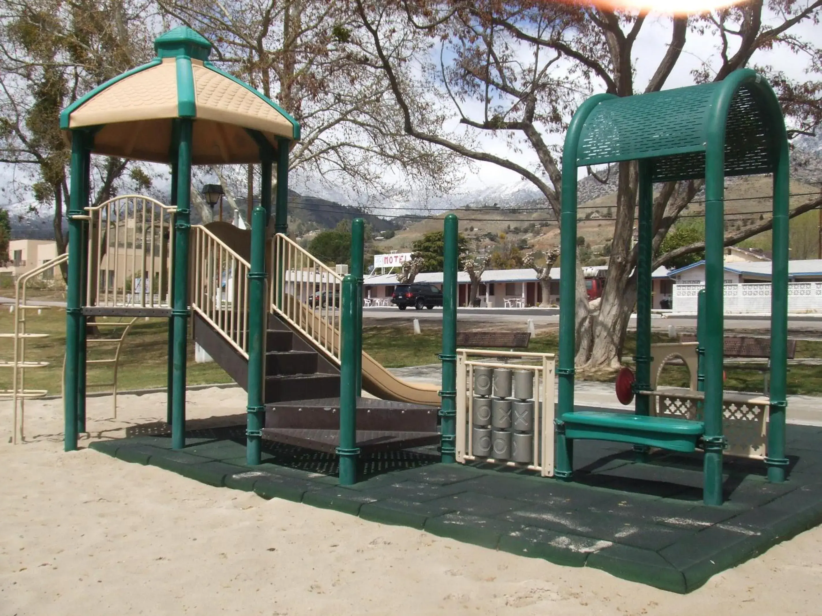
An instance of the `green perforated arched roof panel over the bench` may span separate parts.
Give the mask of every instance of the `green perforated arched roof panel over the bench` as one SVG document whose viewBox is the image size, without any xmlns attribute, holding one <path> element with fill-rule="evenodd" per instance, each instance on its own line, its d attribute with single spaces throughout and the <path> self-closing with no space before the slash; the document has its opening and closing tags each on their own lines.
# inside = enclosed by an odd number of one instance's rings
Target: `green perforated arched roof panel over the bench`
<svg viewBox="0 0 822 616">
<path fill-rule="evenodd" d="M 651 159 L 654 182 L 705 175 L 705 148 L 723 82 L 605 99 L 580 133 L 577 166 Z M 727 113 L 725 175 L 773 170 L 773 120 L 750 83 L 737 90 Z M 779 118 L 781 121 L 781 118 Z"/>
</svg>

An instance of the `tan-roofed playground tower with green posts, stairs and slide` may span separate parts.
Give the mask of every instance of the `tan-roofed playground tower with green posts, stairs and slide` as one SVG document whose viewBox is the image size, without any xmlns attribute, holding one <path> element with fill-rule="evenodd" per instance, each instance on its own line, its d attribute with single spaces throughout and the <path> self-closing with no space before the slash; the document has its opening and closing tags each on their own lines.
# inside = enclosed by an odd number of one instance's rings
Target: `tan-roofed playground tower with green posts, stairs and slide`
<svg viewBox="0 0 822 616">
<path fill-rule="evenodd" d="M 72 143 L 67 297 L 65 448 L 84 430 L 85 324 L 90 317 L 169 320 L 168 420 L 173 448 L 185 445 L 187 334 L 247 389 L 247 462 L 260 462 L 261 439 L 328 447 L 328 416 L 340 404 L 345 370 L 344 310 L 312 306 L 324 291 L 345 296 L 344 279 L 287 235 L 289 149 L 300 128 L 275 103 L 208 61 L 211 44 L 177 28 L 155 41 L 157 57 L 85 94 L 66 108 L 61 127 Z M 146 98 L 146 93 L 150 97 Z M 127 195 L 90 207 L 90 155 L 105 154 L 171 166 L 170 205 Z M 190 223 L 193 164 L 259 163 L 261 201 L 251 231 L 227 223 Z M 276 168 L 276 195 L 273 173 Z M 274 203 L 272 203 L 274 201 Z M 273 205 L 273 208 L 272 208 Z M 272 214 L 273 217 L 272 217 Z M 274 218 L 274 237 L 270 219 Z M 355 221 L 352 270 L 359 310 L 349 329 L 362 329 L 363 221 Z M 357 247 L 358 246 L 358 247 Z M 316 309 L 316 310 L 315 310 Z M 350 332 L 349 332 L 350 333 Z M 395 444 L 439 440 L 428 429 L 405 430 L 414 416 L 436 416 L 437 389 L 395 379 L 352 342 L 356 365 L 352 408 L 380 416 Z M 352 349 L 349 348 L 349 352 Z M 361 376 L 362 375 L 362 376 Z M 359 398 L 362 385 L 391 406 Z M 423 404 L 421 404 L 421 402 Z M 276 405 L 276 406 L 274 406 Z M 289 424 L 296 418 L 296 425 Z M 337 426 L 339 427 L 339 426 Z M 381 428 L 381 430 L 378 430 Z M 295 436 L 294 430 L 300 433 Z M 409 433 L 414 433 L 413 438 Z"/>
</svg>

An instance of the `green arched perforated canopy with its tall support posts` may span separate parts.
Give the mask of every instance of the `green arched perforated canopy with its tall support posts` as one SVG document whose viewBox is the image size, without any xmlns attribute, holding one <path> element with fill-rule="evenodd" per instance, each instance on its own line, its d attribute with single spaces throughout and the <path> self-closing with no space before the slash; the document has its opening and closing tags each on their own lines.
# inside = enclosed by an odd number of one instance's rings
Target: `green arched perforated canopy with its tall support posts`
<svg viewBox="0 0 822 616">
<path fill-rule="evenodd" d="M 653 182 L 705 179 L 705 500 L 722 501 L 724 178 L 774 174 L 769 478 L 784 479 L 787 373 L 788 149 L 774 90 L 748 69 L 725 80 L 619 98 L 598 94 L 575 113 L 562 154 L 559 411 L 574 411 L 577 168 L 639 161 L 635 391 L 650 387 Z M 619 292 L 610 289 L 606 292 Z M 636 412 L 649 414 L 639 396 Z M 570 464 L 557 461 L 558 474 Z"/>
</svg>

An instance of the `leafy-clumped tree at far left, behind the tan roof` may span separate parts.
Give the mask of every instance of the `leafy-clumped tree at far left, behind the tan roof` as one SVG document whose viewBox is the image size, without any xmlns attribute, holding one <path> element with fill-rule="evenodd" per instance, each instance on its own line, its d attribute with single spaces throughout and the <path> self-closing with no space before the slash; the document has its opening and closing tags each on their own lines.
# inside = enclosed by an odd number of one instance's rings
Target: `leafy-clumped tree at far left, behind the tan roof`
<svg viewBox="0 0 822 616">
<path fill-rule="evenodd" d="M 58 253 L 68 200 L 70 149 L 59 113 L 96 85 L 150 57 L 147 0 L 3 0 L 0 3 L 0 163 L 12 165 L 7 189 L 33 209 L 53 208 Z M 150 176 L 122 159 L 95 157 L 92 204 L 115 195 L 128 180 L 147 186 Z M 127 173 L 128 171 L 128 173 Z M 65 265 L 62 274 L 66 276 Z"/>
</svg>

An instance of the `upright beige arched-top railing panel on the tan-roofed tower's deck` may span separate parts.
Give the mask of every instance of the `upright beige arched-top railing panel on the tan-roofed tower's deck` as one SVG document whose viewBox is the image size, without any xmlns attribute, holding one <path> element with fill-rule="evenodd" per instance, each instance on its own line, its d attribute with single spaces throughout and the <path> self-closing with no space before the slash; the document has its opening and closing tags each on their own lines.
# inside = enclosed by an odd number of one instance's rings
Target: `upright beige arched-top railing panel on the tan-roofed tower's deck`
<svg viewBox="0 0 822 616">
<path fill-rule="evenodd" d="M 122 195 L 86 208 L 89 221 L 86 306 L 171 306 L 177 208 Z"/>
</svg>

